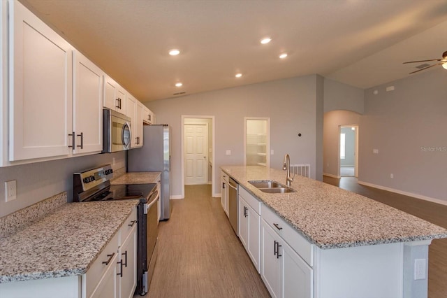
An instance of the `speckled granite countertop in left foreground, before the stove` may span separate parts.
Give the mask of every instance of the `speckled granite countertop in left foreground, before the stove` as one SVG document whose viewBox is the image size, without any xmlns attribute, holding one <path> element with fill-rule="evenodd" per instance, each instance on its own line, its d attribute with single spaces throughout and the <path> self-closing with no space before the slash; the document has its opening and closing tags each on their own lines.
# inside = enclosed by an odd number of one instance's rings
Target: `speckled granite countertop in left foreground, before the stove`
<svg viewBox="0 0 447 298">
<path fill-rule="evenodd" d="M 137 204 L 64 204 L 0 239 L 0 283 L 85 274 Z"/>
</svg>

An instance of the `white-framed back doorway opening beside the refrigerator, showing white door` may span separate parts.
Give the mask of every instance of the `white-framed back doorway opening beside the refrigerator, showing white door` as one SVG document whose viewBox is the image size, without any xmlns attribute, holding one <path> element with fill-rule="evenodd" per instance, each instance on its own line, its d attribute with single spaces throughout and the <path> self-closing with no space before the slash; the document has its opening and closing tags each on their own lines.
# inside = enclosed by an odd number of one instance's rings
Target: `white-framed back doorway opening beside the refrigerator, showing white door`
<svg viewBox="0 0 447 298">
<path fill-rule="evenodd" d="M 211 184 L 214 192 L 213 161 L 214 116 L 182 115 L 182 197 L 184 185 Z"/>
</svg>

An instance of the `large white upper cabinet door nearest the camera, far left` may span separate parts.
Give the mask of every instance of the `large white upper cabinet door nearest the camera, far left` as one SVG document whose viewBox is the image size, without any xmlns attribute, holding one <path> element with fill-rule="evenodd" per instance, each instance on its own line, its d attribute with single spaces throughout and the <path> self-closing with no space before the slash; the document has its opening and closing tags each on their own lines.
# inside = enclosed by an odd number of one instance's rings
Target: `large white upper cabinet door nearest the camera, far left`
<svg viewBox="0 0 447 298">
<path fill-rule="evenodd" d="M 9 3 L 9 159 L 69 155 L 72 47 L 19 1 Z"/>
</svg>

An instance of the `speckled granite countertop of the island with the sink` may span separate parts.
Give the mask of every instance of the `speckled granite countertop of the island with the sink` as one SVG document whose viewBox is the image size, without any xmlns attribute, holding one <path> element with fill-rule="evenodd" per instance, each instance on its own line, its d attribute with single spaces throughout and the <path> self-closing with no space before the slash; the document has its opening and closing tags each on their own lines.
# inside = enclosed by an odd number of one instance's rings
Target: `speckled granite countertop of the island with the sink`
<svg viewBox="0 0 447 298">
<path fill-rule="evenodd" d="M 285 185 L 286 171 L 263 166 L 221 169 L 319 248 L 447 238 L 447 229 L 321 181 L 295 176 L 291 187 L 297 192 L 268 194 L 247 181 Z"/>
</svg>

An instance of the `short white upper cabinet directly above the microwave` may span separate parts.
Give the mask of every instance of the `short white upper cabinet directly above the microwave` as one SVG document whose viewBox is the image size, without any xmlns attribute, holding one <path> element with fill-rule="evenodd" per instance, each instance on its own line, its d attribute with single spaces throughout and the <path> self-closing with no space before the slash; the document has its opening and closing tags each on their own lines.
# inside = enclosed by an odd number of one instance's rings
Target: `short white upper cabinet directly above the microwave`
<svg viewBox="0 0 447 298">
<path fill-rule="evenodd" d="M 104 108 L 126 115 L 127 92 L 110 76 L 104 76 Z"/>
</svg>

